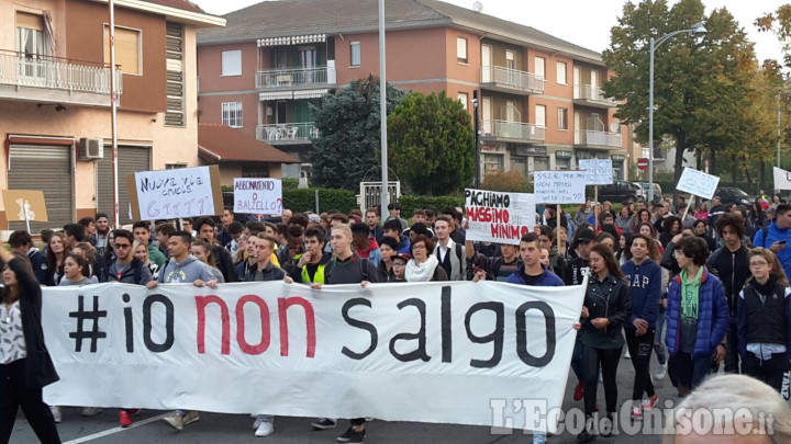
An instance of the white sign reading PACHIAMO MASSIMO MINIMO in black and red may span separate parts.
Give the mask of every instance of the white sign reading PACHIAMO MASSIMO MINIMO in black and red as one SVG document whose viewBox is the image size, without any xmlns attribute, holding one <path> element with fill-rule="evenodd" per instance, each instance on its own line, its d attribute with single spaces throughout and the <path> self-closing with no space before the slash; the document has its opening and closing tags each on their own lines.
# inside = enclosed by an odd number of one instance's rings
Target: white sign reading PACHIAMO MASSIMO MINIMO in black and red
<svg viewBox="0 0 791 444">
<path fill-rule="evenodd" d="M 528 193 L 465 190 L 467 240 L 519 246 L 535 226 L 535 200 Z"/>
</svg>

